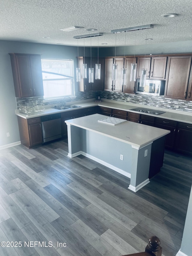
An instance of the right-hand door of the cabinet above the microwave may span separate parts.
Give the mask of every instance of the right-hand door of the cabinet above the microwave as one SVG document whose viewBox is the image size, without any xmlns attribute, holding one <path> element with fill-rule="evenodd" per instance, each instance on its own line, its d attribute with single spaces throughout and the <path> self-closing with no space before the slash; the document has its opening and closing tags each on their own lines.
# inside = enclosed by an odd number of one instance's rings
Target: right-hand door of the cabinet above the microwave
<svg viewBox="0 0 192 256">
<path fill-rule="evenodd" d="M 152 57 L 150 78 L 165 79 L 167 57 Z"/>
</svg>

